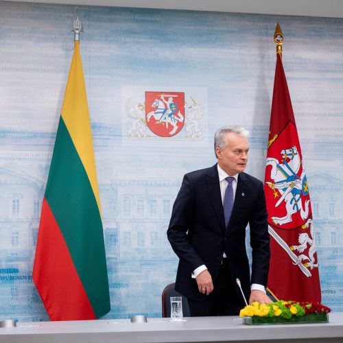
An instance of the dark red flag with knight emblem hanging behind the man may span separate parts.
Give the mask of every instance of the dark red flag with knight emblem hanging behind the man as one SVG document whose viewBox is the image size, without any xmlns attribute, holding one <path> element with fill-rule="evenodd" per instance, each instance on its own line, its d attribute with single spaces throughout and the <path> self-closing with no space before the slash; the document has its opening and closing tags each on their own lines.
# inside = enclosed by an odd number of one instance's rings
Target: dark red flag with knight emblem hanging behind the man
<svg viewBox="0 0 343 343">
<path fill-rule="evenodd" d="M 320 302 L 309 186 L 281 54 L 276 56 L 264 185 L 272 253 L 268 289 L 279 300 Z"/>
</svg>

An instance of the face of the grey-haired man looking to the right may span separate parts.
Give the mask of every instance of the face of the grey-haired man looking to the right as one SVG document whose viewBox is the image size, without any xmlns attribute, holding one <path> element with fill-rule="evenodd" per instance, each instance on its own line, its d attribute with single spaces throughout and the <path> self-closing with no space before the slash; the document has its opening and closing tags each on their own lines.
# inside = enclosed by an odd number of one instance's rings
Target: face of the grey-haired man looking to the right
<svg viewBox="0 0 343 343">
<path fill-rule="evenodd" d="M 226 145 L 224 149 L 215 148 L 218 156 L 218 165 L 233 176 L 246 169 L 248 162 L 249 142 L 242 134 L 228 132 L 225 137 Z"/>
</svg>

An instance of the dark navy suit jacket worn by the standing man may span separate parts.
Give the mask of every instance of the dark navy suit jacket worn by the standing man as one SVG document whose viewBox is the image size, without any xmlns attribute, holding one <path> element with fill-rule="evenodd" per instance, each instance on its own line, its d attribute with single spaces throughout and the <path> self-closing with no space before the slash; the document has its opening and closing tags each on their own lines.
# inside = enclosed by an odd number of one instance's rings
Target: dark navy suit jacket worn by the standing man
<svg viewBox="0 0 343 343">
<path fill-rule="evenodd" d="M 231 277 L 239 278 L 248 300 L 250 284 L 267 285 L 270 248 L 263 183 L 246 173 L 238 176 L 235 202 L 228 227 L 220 195 L 217 165 L 186 174 L 173 211 L 167 235 L 180 261 L 176 290 L 193 300 L 204 300 L 198 291 L 193 270 L 206 265 L 215 282 L 223 252 Z M 252 270 L 246 255 L 246 226 L 250 226 Z M 237 287 L 237 296 L 241 298 Z M 243 300 L 243 299 L 241 299 Z"/>
</svg>

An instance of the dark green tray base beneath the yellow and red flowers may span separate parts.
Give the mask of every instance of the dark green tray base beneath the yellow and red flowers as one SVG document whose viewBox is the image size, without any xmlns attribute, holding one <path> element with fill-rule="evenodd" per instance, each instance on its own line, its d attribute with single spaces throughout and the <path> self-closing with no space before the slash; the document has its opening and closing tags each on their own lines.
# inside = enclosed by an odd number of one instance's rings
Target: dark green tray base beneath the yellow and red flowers
<svg viewBox="0 0 343 343">
<path fill-rule="evenodd" d="M 291 318 L 279 317 L 244 317 L 243 324 L 246 325 L 270 325 L 270 324 L 315 324 L 329 322 L 328 314 L 307 314 L 305 316 L 292 316 Z"/>
</svg>

